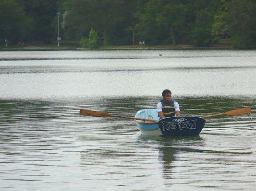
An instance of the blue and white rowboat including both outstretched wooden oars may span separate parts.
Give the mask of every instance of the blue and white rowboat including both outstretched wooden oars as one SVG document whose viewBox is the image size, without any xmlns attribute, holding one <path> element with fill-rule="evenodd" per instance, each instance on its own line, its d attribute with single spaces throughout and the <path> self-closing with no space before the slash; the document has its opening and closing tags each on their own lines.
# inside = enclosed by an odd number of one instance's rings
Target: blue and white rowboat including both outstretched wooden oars
<svg viewBox="0 0 256 191">
<path fill-rule="evenodd" d="M 186 136 L 198 135 L 205 125 L 205 119 L 211 117 L 230 116 L 230 115 L 243 115 L 251 113 L 250 107 L 231 110 L 224 113 L 205 115 L 203 117 L 194 116 L 181 116 L 181 117 L 166 117 L 159 119 L 157 109 L 143 109 L 136 113 L 135 117 L 113 115 L 107 112 L 80 110 L 80 115 L 92 117 L 111 117 L 111 118 L 125 118 L 136 120 L 138 129 L 142 135 L 155 135 L 155 136 Z"/>
</svg>

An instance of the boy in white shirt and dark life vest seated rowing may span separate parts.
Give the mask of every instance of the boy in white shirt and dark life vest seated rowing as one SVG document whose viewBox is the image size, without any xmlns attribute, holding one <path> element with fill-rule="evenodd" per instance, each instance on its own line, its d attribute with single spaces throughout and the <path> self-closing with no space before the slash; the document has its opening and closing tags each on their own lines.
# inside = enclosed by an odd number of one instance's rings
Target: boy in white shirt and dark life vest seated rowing
<svg viewBox="0 0 256 191">
<path fill-rule="evenodd" d="M 158 105 L 158 114 L 160 119 L 165 117 L 177 117 L 181 116 L 180 105 L 178 102 L 171 99 L 171 91 L 163 90 L 162 92 L 163 100 L 161 100 Z"/>
</svg>

